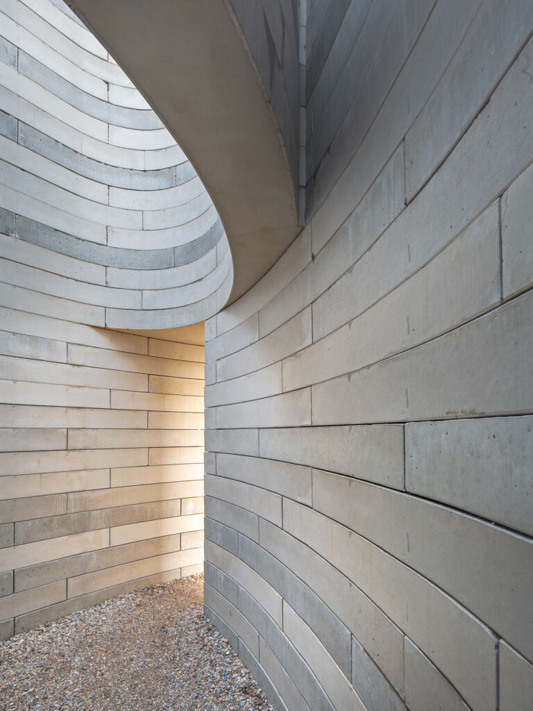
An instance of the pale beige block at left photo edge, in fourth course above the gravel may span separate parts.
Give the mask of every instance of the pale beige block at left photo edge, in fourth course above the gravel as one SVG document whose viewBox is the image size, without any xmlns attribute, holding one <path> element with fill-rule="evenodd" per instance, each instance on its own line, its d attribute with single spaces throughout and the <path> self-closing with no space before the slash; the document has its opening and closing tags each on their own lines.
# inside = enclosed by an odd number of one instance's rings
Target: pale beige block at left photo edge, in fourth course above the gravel
<svg viewBox="0 0 533 711">
<path fill-rule="evenodd" d="M 77 555 L 109 545 L 107 528 L 59 536 L 23 545 L 15 545 L 0 551 L 0 570 L 14 570 L 28 565 L 37 565 L 47 560 Z M 44 605 L 43 605 L 44 606 Z"/>
</svg>

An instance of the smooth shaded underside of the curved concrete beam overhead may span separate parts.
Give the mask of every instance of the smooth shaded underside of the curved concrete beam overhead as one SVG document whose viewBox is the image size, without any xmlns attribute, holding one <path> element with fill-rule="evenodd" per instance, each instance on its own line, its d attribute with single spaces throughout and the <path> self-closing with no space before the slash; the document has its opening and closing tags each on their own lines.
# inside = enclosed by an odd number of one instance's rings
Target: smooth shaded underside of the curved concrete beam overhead
<svg viewBox="0 0 533 711">
<path fill-rule="evenodd" d="M 296 201 L 274 112 L 225 0 L 68 0 L 193 163 L 225 226 L 230 302 L 294 240 Z"/>
</svg>

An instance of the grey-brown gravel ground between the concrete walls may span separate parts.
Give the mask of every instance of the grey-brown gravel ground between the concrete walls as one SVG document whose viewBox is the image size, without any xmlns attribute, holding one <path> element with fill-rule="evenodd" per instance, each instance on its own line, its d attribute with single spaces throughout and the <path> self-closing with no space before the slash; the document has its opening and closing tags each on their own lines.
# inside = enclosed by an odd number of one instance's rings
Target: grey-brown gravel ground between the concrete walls
<svg viewBox="0 0 533 711">
<path fill-rule="evenodd" d="M 202 601 L 194 575 L 0 642 L 0 709 L 274 711 Z"/>
</svg>

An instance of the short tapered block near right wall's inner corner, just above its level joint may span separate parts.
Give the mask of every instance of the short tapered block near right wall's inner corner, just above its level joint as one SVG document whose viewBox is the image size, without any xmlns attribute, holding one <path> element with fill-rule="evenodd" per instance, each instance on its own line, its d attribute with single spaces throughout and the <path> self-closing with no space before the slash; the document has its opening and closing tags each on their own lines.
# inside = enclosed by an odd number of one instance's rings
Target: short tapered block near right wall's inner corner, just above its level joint
<svg viewBox="0 0 533 711">
<path fill-rule="evenodd" d="M 217 407 L 217 427 L 298 427 L 311 424 L 311 388 Z M 207 424 L 206 424 L 207 427 Z"/>
</svg>

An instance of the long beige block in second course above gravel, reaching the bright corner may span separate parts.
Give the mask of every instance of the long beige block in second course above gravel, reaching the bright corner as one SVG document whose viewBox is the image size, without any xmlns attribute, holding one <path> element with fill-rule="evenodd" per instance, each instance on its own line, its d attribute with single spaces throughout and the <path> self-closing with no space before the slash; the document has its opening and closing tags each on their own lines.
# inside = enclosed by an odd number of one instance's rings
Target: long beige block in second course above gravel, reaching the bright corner
<svg viewBox="0 0 533 711">
<path fill-rule="evenodd" d="M 174 570 L 182 565 L 194 565 L 196 562 L 197 555 L 195 550 L 183 550 L 69 578 L 68 597 L 79 597 L 80 595 L 112 587 L 129 580 Z"/>
</svg>

